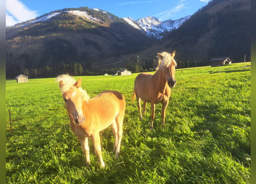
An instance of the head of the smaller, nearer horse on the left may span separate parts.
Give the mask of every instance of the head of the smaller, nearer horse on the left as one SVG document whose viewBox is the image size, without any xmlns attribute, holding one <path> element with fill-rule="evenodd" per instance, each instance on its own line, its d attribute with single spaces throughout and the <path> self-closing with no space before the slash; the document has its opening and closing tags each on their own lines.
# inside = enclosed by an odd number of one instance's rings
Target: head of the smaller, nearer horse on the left
<svg viewBox="0 0 256 184">
<path fill-rule="evenodd" d="M 77 125 L 80 125 L 85 121 L 85 116 L 83 116 L 82 110 L 82 99 L 86 92 L 82 90 L 81 83 L 82 79 L 80 78 L 73 85 L 67 86 L 67 83 L 65 83 L 64 80 L 62 81 L 61 78 L 59 79 L 59 86 L 62 90 L 62 97 L 65 101 L 66 109 L 70 118 Z"/>
</svg>

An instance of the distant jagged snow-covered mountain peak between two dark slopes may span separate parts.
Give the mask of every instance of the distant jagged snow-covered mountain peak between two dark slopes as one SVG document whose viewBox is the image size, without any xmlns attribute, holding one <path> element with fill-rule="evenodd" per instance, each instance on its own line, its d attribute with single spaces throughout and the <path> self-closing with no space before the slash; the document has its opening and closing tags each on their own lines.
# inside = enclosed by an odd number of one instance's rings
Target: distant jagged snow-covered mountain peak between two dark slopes
<svg viewBox="0 0 256 184">
<path fill-rule="evenodd" d="M 134 21 L 131 17 L 124 18 L 128 24 L 131 24 L 134 28 L 144 30 L 147 36 L 156 37 L 157 39 L 163 38 L 164 32 L 169 32 L 170 30 L 177 29 L 181 26 L 186 20 L 188 20 L 190 16 L 186 16 L 183 18 L 179 18 L 178 20 L 166 20 L 160 21 L 156 17 L 144 17 L 139 18 Z"/>
</svg>

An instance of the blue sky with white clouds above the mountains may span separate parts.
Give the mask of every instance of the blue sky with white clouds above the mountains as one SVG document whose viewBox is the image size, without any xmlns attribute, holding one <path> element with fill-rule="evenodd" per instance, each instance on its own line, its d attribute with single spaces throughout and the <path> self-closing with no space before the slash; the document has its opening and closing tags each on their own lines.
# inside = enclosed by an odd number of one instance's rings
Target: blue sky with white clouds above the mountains
<svg viewBox="0 0 256 184">
<path fill-rule="evenodd" d="M 6 0 L 6 26 L 31 20 L 45 13 L 68 7 L 87 6 L 133 20 L 156 17 L 160 21 L 177 20 L 192 15 L 209 0 Z"/>
</svg>

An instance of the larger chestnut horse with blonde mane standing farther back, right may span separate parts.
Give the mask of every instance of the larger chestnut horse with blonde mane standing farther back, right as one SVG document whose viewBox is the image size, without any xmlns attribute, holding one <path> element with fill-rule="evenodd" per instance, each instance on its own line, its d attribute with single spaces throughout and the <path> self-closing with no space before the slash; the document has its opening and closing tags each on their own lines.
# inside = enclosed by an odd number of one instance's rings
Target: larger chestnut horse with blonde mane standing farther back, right
<svg viewBox="0 0 256 184">
<path fill-rule="evenodd" d="M 132 96 L 132 101 L 136 96 L 140 118 L 142 118 L 140 100 L 142 99 L 143 101 L 143 113 L 145 113 L 147 102 L 151 103 L 151 129 L 153 129 L 153 121 L 155 119 L 155 104 L 158 104 L 159 102 L 162 103 L 162 127 L 165 126 L 165 112 L 171 94 L 170 88 L 174 87 L 176 84 L 174 78 L 177 63 L 173 58 L 175 56 L 175 51 L 172 53 L 161 52 L 158 53 L 158 56 L 162 61 L 160 60 L 154 75 L 141 73 L 136 76 Z"/>
</svg>

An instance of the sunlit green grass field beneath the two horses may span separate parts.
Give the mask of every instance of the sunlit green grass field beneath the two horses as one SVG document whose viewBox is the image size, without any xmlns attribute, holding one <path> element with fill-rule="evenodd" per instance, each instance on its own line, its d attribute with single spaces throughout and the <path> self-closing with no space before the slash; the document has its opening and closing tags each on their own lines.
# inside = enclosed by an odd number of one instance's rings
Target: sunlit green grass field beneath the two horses
<svg viewBox="0 0 256 184">
<path fill-rule="evenodd" d="M 90 97 L 118 90 L 127 102 L 118 159 L 111 129 L 101 132 L 105 169 L 91 141 L 85 167 L 55 78 L 6 81 L 6 183 L 250 183 L 250 65 L 176 70 L 166 127 L 159 104 L 153 131 L 150 105 L 140 120 L 131 102 L 137 74 L 81 76 Z"/>
</svg>

